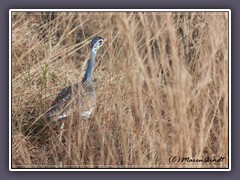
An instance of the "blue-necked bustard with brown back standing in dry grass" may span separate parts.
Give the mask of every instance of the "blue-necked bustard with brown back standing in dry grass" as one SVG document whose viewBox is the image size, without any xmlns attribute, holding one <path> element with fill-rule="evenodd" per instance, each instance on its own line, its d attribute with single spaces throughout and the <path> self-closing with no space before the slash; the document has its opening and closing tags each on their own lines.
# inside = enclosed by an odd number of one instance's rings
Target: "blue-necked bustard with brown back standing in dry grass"
<svg viewBox="0 0 240 180">
<path fill-rule="evenodd" d="M 47 112 L 50 122 L 57 122 L 80 110 L 84 120 L 90 118 L 96 106 L 96 92 L 92 82 L 92 74 L 98 49 L 103 45 L 104 39 L 94 37 L 90 43 L 90 58 L 83 79 L 71 86 L 63 88 L 53 101 Z M 61 129 L 64 124 L 62 124 Z"/>
</svg>

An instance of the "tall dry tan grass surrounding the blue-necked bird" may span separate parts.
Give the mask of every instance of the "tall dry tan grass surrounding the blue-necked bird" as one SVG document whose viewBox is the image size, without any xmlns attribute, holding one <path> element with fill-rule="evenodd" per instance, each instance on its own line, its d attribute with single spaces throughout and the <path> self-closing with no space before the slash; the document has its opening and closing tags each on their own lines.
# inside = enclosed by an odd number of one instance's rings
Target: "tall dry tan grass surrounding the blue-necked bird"
<svg viewBox="0 0 240 180">
<path fill-rule="evenodd" d="M 81 80 L 96 35 L 97 108 L 69 117 L 60 143 L 43 114 Z M 12 166 L 228 167 L 228 14 L 14 12 Z"/>
</svg>

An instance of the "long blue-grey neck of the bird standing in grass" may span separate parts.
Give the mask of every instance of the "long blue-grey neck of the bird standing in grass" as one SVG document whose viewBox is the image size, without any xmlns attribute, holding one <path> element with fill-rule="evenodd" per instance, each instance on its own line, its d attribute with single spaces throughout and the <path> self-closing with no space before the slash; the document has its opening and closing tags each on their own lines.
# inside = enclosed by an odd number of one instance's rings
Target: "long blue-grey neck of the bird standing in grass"
<svg viewBox="0 0 240 180">
<path fill-rule="evenodd" d="M 94 51 L 94 50 L 91 51 L 90 59 L 88 60 L 87 70 L 82 81 L 83 83 L 85 83 L 86 81 L 88 83 L 92 82 L 92 73 L 94 69 L 96 54 L 97 54 L 97 51 Z"/>
</svg>

